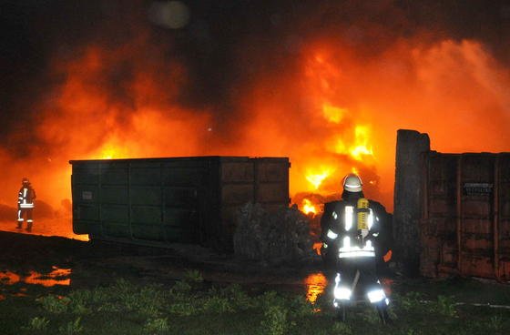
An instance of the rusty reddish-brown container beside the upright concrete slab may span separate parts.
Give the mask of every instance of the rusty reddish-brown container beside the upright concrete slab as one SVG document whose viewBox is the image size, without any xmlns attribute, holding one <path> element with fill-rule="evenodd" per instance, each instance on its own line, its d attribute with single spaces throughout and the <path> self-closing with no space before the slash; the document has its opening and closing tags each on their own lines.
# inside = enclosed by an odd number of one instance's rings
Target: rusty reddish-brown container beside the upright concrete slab
<svg viewBox="0 0 510 335">
<path fill-rule="evenodd" d="M 421 271 L 510 279 L 510 154 L 429 152 Z"/>
</svg>

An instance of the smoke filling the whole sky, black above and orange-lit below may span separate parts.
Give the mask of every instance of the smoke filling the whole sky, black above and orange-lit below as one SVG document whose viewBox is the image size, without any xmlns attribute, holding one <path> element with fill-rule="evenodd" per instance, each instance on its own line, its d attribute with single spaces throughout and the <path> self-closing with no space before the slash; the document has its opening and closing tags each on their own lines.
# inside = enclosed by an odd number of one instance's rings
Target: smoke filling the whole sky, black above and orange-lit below
<svg viewBox="0 0 510 335">
<path fill-rule="evenodd" d="M 331 193 L 356 166 L 391 208 L 398 128 L 428 132 L 441 151 L 508 150 L 503 1 L 3 7 L 0 203 L 9 206 L 28 176 L 61 208 L 69 159 L 250 155 L 291 157 L 293 193 L 312 191 L 303 176 L 313 167 L 336 168 L 318 190 Z M 342 119 L 325 120 L 324 105 Z M 356 125 L 371 134 L 364 163 L 339 149 Z"/>
</svg>

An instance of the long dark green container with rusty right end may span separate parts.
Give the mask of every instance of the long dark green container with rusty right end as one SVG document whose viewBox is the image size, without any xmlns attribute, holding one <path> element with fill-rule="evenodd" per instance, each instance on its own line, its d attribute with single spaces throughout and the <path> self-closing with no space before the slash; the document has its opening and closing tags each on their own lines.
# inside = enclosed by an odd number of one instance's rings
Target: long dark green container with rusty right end
<svg viewBox="0 0 510 335">
<path fill-rule="evenodd" d="M 289 205 L 287 157 L 71 160 L 73 230 L 90 239 L 231 250 L 247 202 Z"/>
</svg>

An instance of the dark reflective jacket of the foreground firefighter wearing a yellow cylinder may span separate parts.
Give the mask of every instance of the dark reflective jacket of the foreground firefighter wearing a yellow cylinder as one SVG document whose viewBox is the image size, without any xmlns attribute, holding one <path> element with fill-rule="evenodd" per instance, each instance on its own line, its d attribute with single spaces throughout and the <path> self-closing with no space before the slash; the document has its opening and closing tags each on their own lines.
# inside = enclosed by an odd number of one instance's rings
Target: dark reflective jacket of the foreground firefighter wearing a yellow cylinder
<svg viewBox="0 0 510 335">
<path fill-rule="evenodd" d="M 360 199 L 365 201 L 364 206 Z M 379 256 L 381 228 L 387 217 L 380 203 L 361 197 L 324 204 L 322 257 L 333 260 Z"/>
</svg>

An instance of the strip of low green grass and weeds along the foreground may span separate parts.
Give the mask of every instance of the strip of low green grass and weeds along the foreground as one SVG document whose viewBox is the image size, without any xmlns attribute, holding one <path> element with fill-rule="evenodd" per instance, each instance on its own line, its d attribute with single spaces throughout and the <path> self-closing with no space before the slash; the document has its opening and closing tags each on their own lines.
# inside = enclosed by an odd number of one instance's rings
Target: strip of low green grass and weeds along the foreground
<svg viewBox="0 0 510 335">
<path fill-rule="evenodd" d="M 458 282 L 451 282 L 457 285 Z M 480 283 L 462 283 L 464 288 Z M 407 285 L 407 283 L 406 283 Z M 368 303 L 348 309 L 345 323 L 334 320 L 325 295 L 311 305 L 304 294 L 253 293 L 240 285 L 210 286 L 189 271 L 171 286 L 140 285 L 119 279 L 107 287 L 35 290 L 26 297 L 0 300 L 1 334 L 491 334 L 510 333 L 510 310 L 458 304 L 474 299 L 471 290 L 446 289 L 448 282 L 393 288 L 390 315 L 382 326 Z M 510 305 L 510 288 L 499 290 L 498 304 Z M 492 289 L 492 290 L 491 290 Z M 448 294 L 451 292 L 452 294 Z M 441 293 L 441 294 L 437 294 Z M 437 294 L 433 296 L 433 294 Z"/>
</svg>

